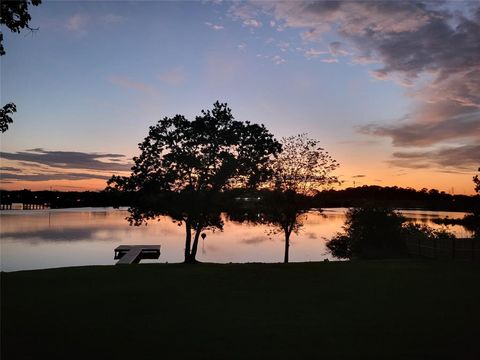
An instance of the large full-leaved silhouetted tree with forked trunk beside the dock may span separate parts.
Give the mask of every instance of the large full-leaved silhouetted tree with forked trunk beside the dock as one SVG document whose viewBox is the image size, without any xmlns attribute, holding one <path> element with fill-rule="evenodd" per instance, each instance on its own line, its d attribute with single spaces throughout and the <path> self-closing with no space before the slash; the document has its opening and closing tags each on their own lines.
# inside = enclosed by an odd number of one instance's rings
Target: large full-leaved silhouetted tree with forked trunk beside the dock
<svg viewBox="0 0 480 360">
<path fill-rule="evenodd" d="M 200 233 L 218 224 L 212 220 L 216 195 L 232 187 L 253 189 L 266 181 L 270 158 L 281 150 L 264 125 L 234 120 L 227 104 L 219 102 L 193 121 L 182 115 L 165 117 L 150 127 L 139 148 L 131 175 L 114 176 L 109 186 L 150 199 L 131 208 L 136 225 L 165 212 L 184 223 L 189 263 L 196 261 Z M 169 204 L 151 201 L 161 193 L 173 194 Z"/>
</svg>

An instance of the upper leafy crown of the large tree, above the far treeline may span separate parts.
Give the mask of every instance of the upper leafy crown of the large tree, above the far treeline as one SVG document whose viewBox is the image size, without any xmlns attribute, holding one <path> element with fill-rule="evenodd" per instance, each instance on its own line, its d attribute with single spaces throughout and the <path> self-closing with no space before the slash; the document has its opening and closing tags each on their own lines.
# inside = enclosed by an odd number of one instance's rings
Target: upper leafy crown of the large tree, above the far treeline
<svg viewBox="0 0 480 360">
<path fill-rule="evenodd" d="M 174 192 L 254 188 L 268 176 L 270 157 L 281 150 L 264 125 L 234 120 L 227 104 L 219 102 L 193 121 L 183 115 L 160 120 L 139 148 L 131 176 L 111 183 Z"/>
</svg>

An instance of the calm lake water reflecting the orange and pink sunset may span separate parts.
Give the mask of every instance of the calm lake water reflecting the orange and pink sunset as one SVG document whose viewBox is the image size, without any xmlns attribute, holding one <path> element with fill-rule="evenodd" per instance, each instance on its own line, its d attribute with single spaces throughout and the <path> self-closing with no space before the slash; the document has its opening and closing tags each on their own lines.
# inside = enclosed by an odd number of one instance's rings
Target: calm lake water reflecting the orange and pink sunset
<svg viewBox="0 0 480 360">
<path fill-rule="evenodd" d="M 408 210 L 412 221 L 438 227 L 432 219 L 461 218 L 465 213 Z M 161 255 L 149 262 L 181 262 L 185 230 L 161 218 L 148 226 L 129 226 L 126 209 L 84 208 L 0 212 L 1 270 L 15 271 L 76 265 L 114 264 L 113 249 L 120 244 L 159 244 Z M 325 238 L 341 230 L 345 209 L 311 211 L 304 226 L 292 235 L 290 259 L 320 261 L 331 258 Z M 207 232 L 197 258 L 204 262 L 280 262 L 283 239 L 270 235 L 270 227 L 225 222 L 223 231 Z M 463 227 L 449 227 L 459 237 L 471 234 Z M 146 261 L 143 261 L 146 262 Z"/>
</svg>

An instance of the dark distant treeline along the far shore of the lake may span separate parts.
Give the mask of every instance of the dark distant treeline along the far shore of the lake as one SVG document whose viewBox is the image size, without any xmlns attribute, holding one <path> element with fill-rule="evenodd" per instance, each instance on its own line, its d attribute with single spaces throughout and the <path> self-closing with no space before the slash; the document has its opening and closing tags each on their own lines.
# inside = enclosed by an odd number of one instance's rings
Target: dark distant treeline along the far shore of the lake
<svg viewBox="0 0 480 360">
<path fill-rule="evenodd" d="M 236 203 L 246 199 L 254 204 L 257 197 L 263 198 L 267 190 L 252 192 L 231 190 L 223 193 L 225 201 Z M 118 191 L 6 191 L 0 190 L 2 204 L 28 203 L 49 204 L 51 208 L 130 206 L 137 201 L 135 193 Z M 381 206 L 390 208 L 421 208 L 429 210 L 480 211 L 479 195 L 451 195 L 435 189 L 362 186 L 343 190 L 325 190 L 315 196 L 304 197 L 308 207 L 361 207 Z"/>
</svg>

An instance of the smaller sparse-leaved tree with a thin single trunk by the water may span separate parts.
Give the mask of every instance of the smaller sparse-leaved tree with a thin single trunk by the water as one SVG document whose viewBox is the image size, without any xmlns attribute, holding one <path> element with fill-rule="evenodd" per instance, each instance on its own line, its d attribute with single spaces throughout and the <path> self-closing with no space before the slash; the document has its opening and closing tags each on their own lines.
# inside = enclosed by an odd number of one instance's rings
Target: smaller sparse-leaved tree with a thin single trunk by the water
<svg viewBox="0 0 480 360">
<path fill-rule="evenodd" d="M 311 195 L 338 183 L 332 172 L 339 164 L 319 146 L 318 140 L 308 138 L 307 134 L 283 138 L 281 144 L 282 152 L 270 163 L 270 187 L 278 196 L 271 201 L 274 206 L 269 218 L 284 234 L 283 261 L 288 263 L 290 236 L 301 227 L 299 216 L 306 211 L 299 195 Z"/>
</svg>

